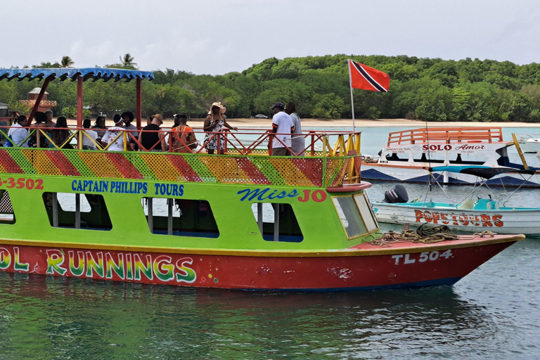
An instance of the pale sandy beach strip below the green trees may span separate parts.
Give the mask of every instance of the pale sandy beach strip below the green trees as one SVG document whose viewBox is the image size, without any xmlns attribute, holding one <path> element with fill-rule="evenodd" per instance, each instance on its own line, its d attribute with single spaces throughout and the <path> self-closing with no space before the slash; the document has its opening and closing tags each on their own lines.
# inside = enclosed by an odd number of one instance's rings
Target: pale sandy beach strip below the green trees
<svg viewBox="0 0 540 360">
<path fill-rule="evenodd" d="M 54 119 L 56 121 L 56 119 Z M 92 125 L 95 119 L 92 119 Z M 231 126 L 249 128 L 271 128 L 272 120 L 268 119 L 227 119 Z M 203 127 L 204 119 L 190 119 L 188 125 L 191 127 Z M 68 119 L 68 124 L 75 126 L 77 120 Z M 113 120 L 107 118 L 105 120 L 107 127 L 114 126 Z M 133 122 L 136 124 L 136 122 Z M 172 127 L 172 119 L 165 119 L 164 127 Z M 407 119 L 356 119 L 354 120 L 355 127 L 362 129 L 366 127 L 411 127 L 420 128 L 426 127 L 426 123 L 422 120 L 407 120 Z M 141 126 L 146 126 L 146 119 L 143 119 Z M 533 122 L 428 122 L 428 127 L 540 127 L 540 123 Z M 352 127 L 352 119 L 302 119 L 302 127 Z"/>
</svg>

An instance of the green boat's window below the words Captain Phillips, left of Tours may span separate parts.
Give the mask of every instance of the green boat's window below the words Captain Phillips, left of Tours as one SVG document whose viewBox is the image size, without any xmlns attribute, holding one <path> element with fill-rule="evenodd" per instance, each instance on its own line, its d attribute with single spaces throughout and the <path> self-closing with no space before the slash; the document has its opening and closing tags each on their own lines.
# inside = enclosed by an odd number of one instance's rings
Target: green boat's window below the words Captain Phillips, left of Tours
<svg viewBox="0 0 540 360">
<path fill-rule="evenodd" d="M 107 231 L 113 229 L 102 195 L 43 193 L 43 202 L 53 227 Z"/>
</svg>

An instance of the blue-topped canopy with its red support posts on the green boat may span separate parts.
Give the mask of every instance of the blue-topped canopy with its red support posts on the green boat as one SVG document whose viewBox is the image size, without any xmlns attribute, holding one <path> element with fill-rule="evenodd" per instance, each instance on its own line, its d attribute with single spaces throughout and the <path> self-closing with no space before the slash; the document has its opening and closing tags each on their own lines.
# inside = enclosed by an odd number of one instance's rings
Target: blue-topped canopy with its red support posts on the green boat
<svg viewBox="0 0 540 360">
<path fill-rule="evenodd" d="M 82 127 L 82 83 L 86 80 L 93 80 L 94 82 L 98 80 L 103 80 L 108 82 L 113 80 L 118 82 L 120 80 L 125 80 L 127 82 L 135 79 L 136 80 L 136 124 L 137 128 L 141 129 L 141 120 L 142 120 L 142 79 L 153 80 L 154 74 L 151 71 L 141 71 L 141 70 L 126 70 L 126 69 L 109 69 L 109 68 L 38 68 L 38 69 L 0 69 L 0 80 L 7 79 L 11 81 L 13 79 L 18 79 L 18 81 L 23 81 L 23 79 L 45 79 L 43 85 L 41 85 L 41 91 L 37 96 L 34 107 L 30 112 L 28 120 L 32 122 L 34 114 L 39 108 L 41 99 L 43 98 L 49 82 L 53 79 L 60 79 L 65 81 L 66 79 L 71 79 L 72 82 L 77 81 L 77 127 Z"/>
</svg>

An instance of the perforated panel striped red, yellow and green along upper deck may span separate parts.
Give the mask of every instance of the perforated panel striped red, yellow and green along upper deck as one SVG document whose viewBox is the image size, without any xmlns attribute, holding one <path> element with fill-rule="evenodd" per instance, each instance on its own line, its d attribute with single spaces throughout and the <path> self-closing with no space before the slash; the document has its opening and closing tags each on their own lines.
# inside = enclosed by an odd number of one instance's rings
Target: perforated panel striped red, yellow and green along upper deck
<svg viewBox="0 0 540 360">
<path fill-rule="evenodd" d="M 4 173 L 214 184 L 339 186 L 351 160 L 0 148 L 0 172 Z"/>
</svg>

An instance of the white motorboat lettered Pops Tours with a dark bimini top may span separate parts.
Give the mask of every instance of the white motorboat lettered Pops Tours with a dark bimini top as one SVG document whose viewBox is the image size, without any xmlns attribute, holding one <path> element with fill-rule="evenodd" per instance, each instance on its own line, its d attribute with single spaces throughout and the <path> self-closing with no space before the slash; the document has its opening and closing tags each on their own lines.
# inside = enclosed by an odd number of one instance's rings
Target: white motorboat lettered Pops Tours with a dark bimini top
<svg viewBox="0 0 540 360">
<path fill-rule="evenodd" d="M 508 198 L 499 200 L 494 195 L 489 198 L 477 196 L 478 190 L 486 186 L 487 180 L 501 174 L 514 172 L 525 176 L 534 176 L 533 170 L 520 170 L 509 167 L 473 167 L 446 166 L 434 167 L 430 172 L 449 172 L 469 174 L 482 179 L 463 200 L 457 203 L 440 203 L 428 200 L 432 194 L 426 194 L 424 200 L 409 202 L 404 186 L 398 184 L 385 193 L 384 201 L 373 201 L 373 210 L 380 222 L 390 224 L 433 224 L 445 225 L 449 229 L 470 231 L 473 233 L 493 231 L 497 233 L 525 234 L 540 236 L 540 207 L 506 206 Z M 432 182 L 437 182 L 432 178 Z M 489 188 L 489 186 L 487 186 Z M 519 188 L 518 188 L 519 189 Z M 441 189 L 442 190 L 442 189 Z M 433 191 L 435 192 L 435 191 Z M 444 190 L 442 190 L 444 192 Z"/>
</svg>

